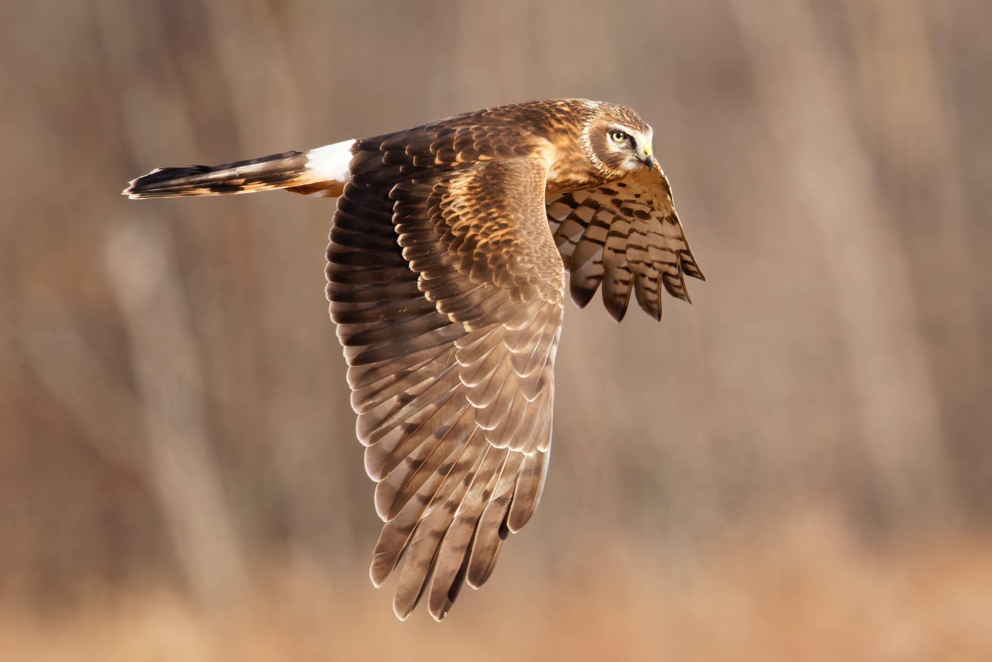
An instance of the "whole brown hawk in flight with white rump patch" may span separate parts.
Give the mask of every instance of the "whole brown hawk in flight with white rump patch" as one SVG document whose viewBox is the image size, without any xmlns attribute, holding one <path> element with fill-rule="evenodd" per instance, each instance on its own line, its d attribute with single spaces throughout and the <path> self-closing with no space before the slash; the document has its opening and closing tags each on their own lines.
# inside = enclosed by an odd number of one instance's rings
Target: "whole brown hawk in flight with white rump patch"
<svg viewBox="0 0 992 662">
<path fill-rule="evenodd" d="M 618 322 L 633 292 L 661 320 L 663 289 L 688 301 L 684 276 L 702 280 L 652 137 L 624 106 L 550 99 L 124 191 L 337 199 L 326 294 L 385 523 L 370 574 L 379 587 L 404 559 L 401 619 L 422 596 L 443 618 L 534 514 L 565 290 L 584 307 L 601 289 Z"/>
</svg>

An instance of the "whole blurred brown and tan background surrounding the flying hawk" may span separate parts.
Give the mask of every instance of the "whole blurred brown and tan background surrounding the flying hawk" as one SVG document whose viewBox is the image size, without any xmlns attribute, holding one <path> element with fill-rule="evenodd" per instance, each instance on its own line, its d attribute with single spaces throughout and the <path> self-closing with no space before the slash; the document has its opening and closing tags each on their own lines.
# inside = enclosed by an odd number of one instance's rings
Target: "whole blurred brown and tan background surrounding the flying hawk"
<svg viewBox="0 0 992 662">
<path fill-rule="evenodd" d="M 5 3 L 0 657 L 992 659 L 990 24 L 981 0 Z M 400 623 L 367 579 L 334 203 L 119 192 L 556 96 L 655 127 L 708 280 L 660 325 L 566 309 L 538 514 L 443 623 Z"/>
</svg>

